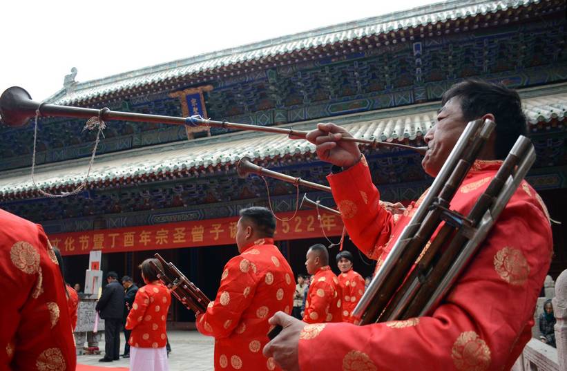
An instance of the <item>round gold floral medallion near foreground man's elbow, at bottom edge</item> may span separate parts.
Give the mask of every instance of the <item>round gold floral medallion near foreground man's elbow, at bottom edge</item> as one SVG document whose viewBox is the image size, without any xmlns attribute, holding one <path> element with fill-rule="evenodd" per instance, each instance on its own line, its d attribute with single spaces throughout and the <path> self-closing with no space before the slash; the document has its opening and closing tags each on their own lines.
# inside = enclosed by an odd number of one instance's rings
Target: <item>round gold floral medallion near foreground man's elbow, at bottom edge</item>
<svg viewBox="0 0 567 371">
<path fill-rule="evenodd" d="M 465 331 L 453 344 L 453 363 L 459 371 L 484 371 L 490 366 L 490 349 L 474 331 Z"/>
</svg>

